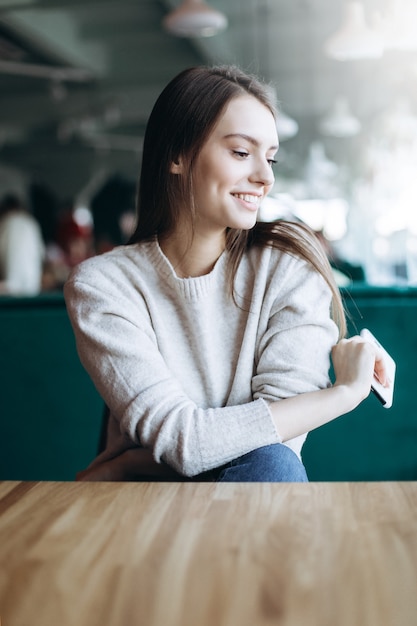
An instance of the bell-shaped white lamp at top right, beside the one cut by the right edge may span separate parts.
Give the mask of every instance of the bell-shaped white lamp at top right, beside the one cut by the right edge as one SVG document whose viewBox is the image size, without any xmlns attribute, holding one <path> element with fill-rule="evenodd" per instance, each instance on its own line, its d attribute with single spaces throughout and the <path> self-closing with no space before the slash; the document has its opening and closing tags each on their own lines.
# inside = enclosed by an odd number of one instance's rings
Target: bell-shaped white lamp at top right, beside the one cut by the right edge
<svg viewBox="0 0 417 626">
<path fill-rule="evenodd" d="M 361 2 L 346 3 L 344 22 L 325 42 L 324 51 L 337 61 L 378 59 L 383 55 L 383 39 L 367 26 Z"/>
</svg>

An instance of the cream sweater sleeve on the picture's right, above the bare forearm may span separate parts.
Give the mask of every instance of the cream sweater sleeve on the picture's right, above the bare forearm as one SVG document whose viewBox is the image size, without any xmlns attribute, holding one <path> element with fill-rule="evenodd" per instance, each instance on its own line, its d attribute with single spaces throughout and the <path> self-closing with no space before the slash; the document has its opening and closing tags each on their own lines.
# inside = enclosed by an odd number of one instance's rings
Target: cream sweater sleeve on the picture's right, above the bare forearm
<svg viewBox="0 0 417 626">
<path fill-rule="evenodd" d="M 329 385 L 330 351 L 338 330 L 331 292 L 307 263 L 294 262 L 279 288 L 272 281 L 259 321 L 254 398 L 279 400 Z"/>
</svg>

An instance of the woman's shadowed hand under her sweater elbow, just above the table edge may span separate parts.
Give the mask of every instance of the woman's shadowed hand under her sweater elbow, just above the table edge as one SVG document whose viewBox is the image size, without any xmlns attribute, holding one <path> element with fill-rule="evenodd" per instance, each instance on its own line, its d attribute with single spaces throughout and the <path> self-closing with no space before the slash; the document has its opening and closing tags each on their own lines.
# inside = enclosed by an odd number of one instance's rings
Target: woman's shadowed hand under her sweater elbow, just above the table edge
<svg viewBox="0 0 417 626">
<path fill-rule="evenodd" d="M 178 480 L 182 477 L 168 465 L 156 463 L 152 452 L 145 448 L 130 448 L 119 456 L 93 464 L 79 472 L 77 481 Z"/>
</svg>

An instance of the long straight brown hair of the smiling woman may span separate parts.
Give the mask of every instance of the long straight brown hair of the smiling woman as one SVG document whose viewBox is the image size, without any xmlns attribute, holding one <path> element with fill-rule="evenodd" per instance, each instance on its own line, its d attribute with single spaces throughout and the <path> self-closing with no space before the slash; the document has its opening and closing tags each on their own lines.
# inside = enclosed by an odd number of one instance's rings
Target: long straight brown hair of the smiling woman
<svg viewBox="0 0 417 626">
<path fill-rule="evenodd" d="M 194 221 L 193 168 L 224 109 L 241 95 L 251 95 L 276 116 L 271 90 L 258 78 L 234 66 L 194 67 L 176 76 L 157 99 L 146 127 L 142 168 L 137 195 L 137 225 L 129 243 L 167 235 L 175 229 L 179 211 L 188 207 Z M 181 158 L 185 176 L 171 173 Z M 230 289 L 245 251 L 251 246 L 272 246 L 305 259 L 328 283 L 332 292 L 332 316 L 340 336 L 346 322 L 339 289 L 321 244 L 301 224 L 258 222 L 250 231 L 229 229 Z"/>
</svg>

